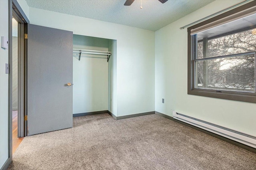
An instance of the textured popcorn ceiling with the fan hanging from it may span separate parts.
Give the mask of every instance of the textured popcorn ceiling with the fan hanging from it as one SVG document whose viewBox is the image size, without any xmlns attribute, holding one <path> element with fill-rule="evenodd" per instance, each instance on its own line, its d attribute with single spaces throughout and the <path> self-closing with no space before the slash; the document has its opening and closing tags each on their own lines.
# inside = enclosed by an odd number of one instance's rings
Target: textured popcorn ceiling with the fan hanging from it
<svg viewBox="0 0 256 170">
<path fill-rule="evenodd" d="M 214 0 L 26 0 L 28 6 L 156 31 Z"/>
</svg>

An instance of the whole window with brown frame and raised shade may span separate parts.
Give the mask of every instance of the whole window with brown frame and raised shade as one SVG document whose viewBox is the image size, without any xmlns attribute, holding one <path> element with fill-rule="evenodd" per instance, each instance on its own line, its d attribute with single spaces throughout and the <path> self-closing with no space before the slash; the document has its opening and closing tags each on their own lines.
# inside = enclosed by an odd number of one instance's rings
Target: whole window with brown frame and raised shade
<svg viewBox="0 0 256 170">
<path fill-rule="evenodd" d="M 188 94 L 256 103 L 256 3 L 188 28 Z"/>
</svg>

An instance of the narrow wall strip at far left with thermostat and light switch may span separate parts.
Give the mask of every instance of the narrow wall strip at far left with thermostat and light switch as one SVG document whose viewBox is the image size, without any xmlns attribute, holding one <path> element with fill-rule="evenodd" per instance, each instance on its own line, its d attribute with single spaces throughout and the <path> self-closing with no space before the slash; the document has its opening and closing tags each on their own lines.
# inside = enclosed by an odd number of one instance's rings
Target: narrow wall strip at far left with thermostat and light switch
<svg viewBox="0 0 256 170">
<path fill-rule="evenodd" d="M 0 0 L 0 36 L 8 38 L 8 0 Z M 8 159 L 8 49 L 0 48 L 0 168 Z"/>
</svg>

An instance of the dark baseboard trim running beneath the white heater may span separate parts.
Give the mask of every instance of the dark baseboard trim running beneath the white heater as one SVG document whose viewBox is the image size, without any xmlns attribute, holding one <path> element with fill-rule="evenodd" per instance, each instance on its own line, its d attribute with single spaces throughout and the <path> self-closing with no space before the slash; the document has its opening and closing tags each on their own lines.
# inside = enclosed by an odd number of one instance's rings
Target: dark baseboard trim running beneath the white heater
<svg viewBox="0 0 256 170">
<path fill-rule="evenodd" d="M 229 139 L 229 138 L 225 138 L 224 136 L 220 136 L 220 135 L 218 135 L 218 134 L 215 134 L 215 133 L 209 132 L 209 131 L 207 131 L 207 130 L 204 130 L 204 129 L 202 129 L 202 128 L 195 127 L 195 126 L 193 126 L 193 125 L 190 125 L 190 124 L 188 124 L 188 123 L 184 123 L 184 122 L 182 122 L 182 121 L 178 121 L 178 120 L 174 119 L 174 118 L 171 117 L 171 116 L 164 115 L 164 114 L 159 113 L 159 112 L 157 112 L 157 111 L 155 111 L 155 114 L 156 114 L 156 115 L 159 115 L 159 116 L 161 116 L 161 117 L 170 119 L 170 120 L 172 120 L 172 121 L 174 121 L 174 122 L 180 123 L 180 124 L 182 124 L 182 125 L 185 125 L 185 126 L 187 126 L 187 127 L 194 128 L 195 130 L 198 130 L 198 131 L 200 131 L 200 132 L 204 132 L 204 133 L 206 133 L 206 134 L 209 134 L 210 136 L 213 136 L 213 137 L 218 138 L 218 139 L 220 139 L 220 140 L 224 140 L 225 142 L 234 144 L 234 145 L 236 145 L 236 146 L 238 146 L 238 147 L 240 147 L 240 148 L 249 150 L 250 152 L 256 153 L 256 149 L 255 149 L 255 148 L 252 148 L 251 146 L 247 146 L 246 144 L 242 144 L 242 143 L 240 143 L 240 142 L 236 142 L 236 141 L 231 140 L 231 139 Z"/>
</svg>

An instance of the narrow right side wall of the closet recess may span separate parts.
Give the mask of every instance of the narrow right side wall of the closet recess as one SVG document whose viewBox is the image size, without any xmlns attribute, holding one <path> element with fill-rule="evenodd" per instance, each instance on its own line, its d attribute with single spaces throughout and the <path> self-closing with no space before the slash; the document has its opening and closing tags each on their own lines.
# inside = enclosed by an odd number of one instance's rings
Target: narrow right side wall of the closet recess
<svg viewBox="0 0 256 170">
<path fill-rule="evenodd" d="M 116 88 L 116 51 L 117 41 L 108 41 L 108 51 L 111 51 L 111 56 L 108 60 L 108 111 L 115 116 L 117 115 L 117 88 Z"/>
</svg>

